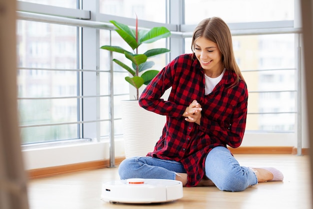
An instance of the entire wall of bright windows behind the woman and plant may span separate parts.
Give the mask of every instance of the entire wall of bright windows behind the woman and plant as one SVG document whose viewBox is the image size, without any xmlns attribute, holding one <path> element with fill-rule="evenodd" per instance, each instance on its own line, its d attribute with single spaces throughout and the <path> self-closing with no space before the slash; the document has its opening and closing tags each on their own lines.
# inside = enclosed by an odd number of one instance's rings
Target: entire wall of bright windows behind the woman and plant
<svg viewBox="0 0 313 209">
<path fill-rule="evenodd" d="M 295 66 L 299 59 L 295 52 L 297 35 L 290 32 L 271 33 L 275 27 L 268 24 L 275 22 L 278 28 L 283 28 L 285 25 L 280 26 L 280 23 L 292 22 L 294 1 L 268 1 L 266 4 L 254 0 L 185 0 L 184 12 L 177 11 L 180 7 L 172 7 L 169 1 L 99 0 L 83 3 L 76 0 L 24 0 L 36 3 L 36 7 L 44 5 L 45 11 L 46 6 L 63 7 L 74 12 L 80 11 L 73 10 L 76 8 L 82 8 L 87 13 L 90 8 L 94 11 L 90 11 L 92 20 L 60 18 L 52 13 L 48 16 L 50 20 L 35 14 L 27 20 L 28 16 L 23 14 L 23 18 L 17 21 L 17 84 L 22 143 L 81 138 L 93 140 L 95 135 L 101 139 L 107 139 L 111 134 L 122 136 L 120 101 L 133 99 L 134 89 L 124 80 L 128 73 L 115 63 L 111 66 L 111 59 L 122 62 L 127 62 L 127 59 L 121 54 L 110 54 L 99 48 L 110 44 L 127 48 L 107 22 L 118 19 L 133 27 L 136 15 L 144 27 L 153 27 L 157 23 L 165 25 L 169 19 L 172 23 L 175 18 L 178 20 L 174 22 L 184 23 L 177 24 L 177 27 L 170 25 L 172 30 L 173 26 L 184 30 L 173 31 L 175 33 L 170 41 L 160 40 L 154 45 L 143 45 L 142 51 L 146 51 L 147 47 L 171 46 L 171 55 L 190 53 L 190 34 L 194 25 L 207 17 L 221 17 L 232 31 L 241 30 L 244 35 L 235 33 L 232 38 L 236 61 L 249 91 L 246 130 L 294 132 L 298 96 L 295 79 Z M 276 4 L 280 4 L 279 10 Z M 259 11 L 262 12 L 260 15 Z M 66 14 L 61 17 L 66 17 Z M 106 26 L 110 27 L 102 27 L 102 23 L 97 22 L 104 19 Z M 260 34 L 244 32 L 258 27 L 256 22 L 266 22 L 258 28 L 264 31 Z M 266 27 L 271 29 L 270 33 L 267 33 Z M 177 40 L 184 40 L 184 48 L 182 42 Z M 181 45 L 174 46 L 173 43 Z M 88 54 L 92 55 L 88 57 Z M 168 62 L 167 57 L 156 57 L 153 68 L 161 70 Z M 90 72 L 86 72 L 88 70 Z M 113 113 L 110 112 L 112 110 Z M 113 118 L 110 118 L 111 115 Z M 114 124 L 113 133 L 111 123 Z"/>
</svg>

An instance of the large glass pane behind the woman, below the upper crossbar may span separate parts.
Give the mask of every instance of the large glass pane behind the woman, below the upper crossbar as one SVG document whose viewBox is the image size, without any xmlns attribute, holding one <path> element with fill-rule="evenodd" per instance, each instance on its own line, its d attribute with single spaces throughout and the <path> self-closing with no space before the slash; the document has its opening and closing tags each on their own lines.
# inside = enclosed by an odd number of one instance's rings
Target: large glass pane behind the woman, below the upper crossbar
<svg viewBox="0 0 313 209">
<path fill-rule="evenodd" d="M 294 130 L 294 40 L 293 34 L 232 37 L 235 59 L 249 91 L 246 130 Z M 185 43 L 186 53 L 190 53 L 191 38 Z"/>
</svg>

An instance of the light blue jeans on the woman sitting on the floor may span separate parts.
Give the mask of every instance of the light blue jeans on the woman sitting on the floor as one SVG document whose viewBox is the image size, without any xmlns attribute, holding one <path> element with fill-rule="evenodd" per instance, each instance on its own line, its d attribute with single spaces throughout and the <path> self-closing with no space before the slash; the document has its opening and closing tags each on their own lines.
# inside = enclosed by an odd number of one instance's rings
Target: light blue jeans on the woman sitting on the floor
<svg viewBox="0 0 313 209">
<path fill-rule="evenodd" d="M 205 176 L 218 189 L 223 191 L 243 191 L 257 184 L 252 169 L 240 166 L 238 161 L 225 147 L 215 147 L 206 156 Z M 186 173 L 180 162 L 152 157 L 132 157 L 123 160 L 118 167 L 121 179 L 127 178 L 176 178 L 177 173 Z"/>
</svg>

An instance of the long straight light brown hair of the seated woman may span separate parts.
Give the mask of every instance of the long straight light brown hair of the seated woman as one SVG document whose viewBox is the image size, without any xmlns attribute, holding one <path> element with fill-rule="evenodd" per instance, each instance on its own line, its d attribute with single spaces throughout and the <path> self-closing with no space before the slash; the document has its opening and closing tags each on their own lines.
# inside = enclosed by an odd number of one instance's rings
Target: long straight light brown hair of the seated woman
<svg viewBox="0 0 313 209">
<path fill-rule="evenodd" d="M 207 18 L 197 25 L 192 36 L 192 52 L 195 48 L 194 42 L 199 37 L 214 42 L 222 55 L 221 60 L 226 70 L 235 72 L 237 79 L 231 84 L 230 88 L 236 86 L 239 80 L 244 80 L 234 58 L 230 30 L 222 19 L 217 17 Z"/>
</svg>

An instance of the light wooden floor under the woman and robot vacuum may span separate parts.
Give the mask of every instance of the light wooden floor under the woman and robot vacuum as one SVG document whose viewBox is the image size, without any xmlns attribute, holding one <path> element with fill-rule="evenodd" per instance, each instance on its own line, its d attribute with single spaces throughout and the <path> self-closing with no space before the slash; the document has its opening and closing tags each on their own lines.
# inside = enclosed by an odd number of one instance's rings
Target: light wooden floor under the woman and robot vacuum
<svg viewBox="0 0 313 209">
<path fill-rule="evenodd" d="M 284 173 L 284 181 L 259 183 L 241 192 L 220 191 L 214 186 L 184 187 L 183 197 L 169 203 L 113 204 L 100 199 L 101 184 L 119 179 L 117 168 L 104 168 L 30 180 L 29 205 L 30 209 L 312 209 L 308 156 L 236 154 L 235 157 L 244 166 L 274 166 Z"/>
</svg>

